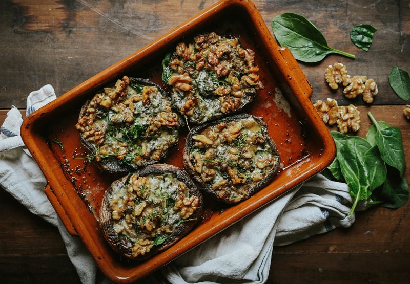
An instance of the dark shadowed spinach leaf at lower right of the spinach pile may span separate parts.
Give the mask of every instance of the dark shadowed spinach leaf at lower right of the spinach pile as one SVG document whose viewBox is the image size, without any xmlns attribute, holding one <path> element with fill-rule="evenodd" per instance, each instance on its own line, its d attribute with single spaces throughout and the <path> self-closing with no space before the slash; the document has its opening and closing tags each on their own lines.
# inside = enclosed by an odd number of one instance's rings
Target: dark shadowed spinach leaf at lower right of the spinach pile
<svg viewBox="0 0 410 284">
<path fill-rule="evenodd" d="M 386 201 L 383 207 L 396 209 L 402 207 L 408 200 L 408 185 L 404 177 L 391 178 L 387 177 L 383 184 L 381 198 Z"/>
</svg>

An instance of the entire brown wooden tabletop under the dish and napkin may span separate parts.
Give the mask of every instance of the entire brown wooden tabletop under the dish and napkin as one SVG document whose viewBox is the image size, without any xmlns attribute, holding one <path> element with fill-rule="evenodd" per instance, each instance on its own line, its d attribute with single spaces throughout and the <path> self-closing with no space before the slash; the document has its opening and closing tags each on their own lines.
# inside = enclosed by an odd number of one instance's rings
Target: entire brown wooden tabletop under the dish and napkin
<svg viewBox="0 0 410 284">
<path fill-rule="evenodd" d="M 0 121 L 7 109 L 26 106 L 26 97 L 44 84 L 57 96 L 165 34 L 215 1 L 4 0 L 0 2 Z M 270 27 L 274 16 L 295 12 L 308 17 L 330 46 L 357 59 L 331 55 L 301 64 L 313 85 L 312 100 L 334 97 L 324 69 L 343 62 L 350 73 L 374 78 L 379 94 L 360 106 L 364 136 L 371 110 L 376 119 L 401 129 L 410 182 L 410 122 L 388 85 L 394 65 L 410 70 L 409 1 L 255 1 Z M 349 31 L 369 23 L 378 31 L 370 51 L 356 48 Z M 374 207 L 356 215 L 349 229 L 338 228 L 285 247 L 275 247 L 269 283 L 395 282 L 410 279 L 410 204 L 397 210 Z M 0 281 L 2 283 L 79 282 L 56 228 L 31 214 L 0 190 Z"/>
</svg>

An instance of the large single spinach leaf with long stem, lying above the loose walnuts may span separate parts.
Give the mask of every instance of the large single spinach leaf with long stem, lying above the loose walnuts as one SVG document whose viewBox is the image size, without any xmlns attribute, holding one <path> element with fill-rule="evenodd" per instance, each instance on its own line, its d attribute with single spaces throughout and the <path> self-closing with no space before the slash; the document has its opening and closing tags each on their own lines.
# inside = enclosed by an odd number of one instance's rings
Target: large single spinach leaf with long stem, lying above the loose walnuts
<svg viewBox="0 0 410 284">
<path fill-rule="evenodd" d="M 330 53 L 355 58 L 353 54 L 327 46 L 326 39 L 318 28 L 301 15 L 284 13 L 274 17 L 272 30 L 279 44 L 289 48 L 300 61 L 318 62 Z"/>
</svg>

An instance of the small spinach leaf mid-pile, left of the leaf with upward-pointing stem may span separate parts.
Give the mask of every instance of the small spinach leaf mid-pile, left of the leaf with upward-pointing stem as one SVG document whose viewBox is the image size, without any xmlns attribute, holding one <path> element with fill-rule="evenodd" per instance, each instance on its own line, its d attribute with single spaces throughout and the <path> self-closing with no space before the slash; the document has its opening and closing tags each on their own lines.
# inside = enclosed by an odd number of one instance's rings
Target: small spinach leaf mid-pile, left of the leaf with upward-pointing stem
<svg viewBox="0 0 410 284">
<path fill-rule="evenodd" d="M 373 191 L 381 186 L 386 180 L 386 164 L 380 157 L 377 146 L 373 146 L 364 153 L 364 166 L 367 170 L 367 180 L 369 181 L 369 191 Z"/>
</svg>

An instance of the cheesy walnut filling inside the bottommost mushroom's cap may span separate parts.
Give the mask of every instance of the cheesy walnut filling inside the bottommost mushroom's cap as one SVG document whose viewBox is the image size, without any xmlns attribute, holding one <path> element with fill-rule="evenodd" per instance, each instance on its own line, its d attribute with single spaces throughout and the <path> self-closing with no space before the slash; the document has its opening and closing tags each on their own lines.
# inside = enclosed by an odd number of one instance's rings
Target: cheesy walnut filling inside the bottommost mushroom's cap
<svg viewBox="0 0 410 284">
<path fill-rule="evenodd" d="M 133 243 L 132 255 L 149 253 L 189 220 L 199 198 L 172 173 L 129 176 L 125 185 L 113 188 L 110 208 L 113 227 L 120 238 Z"/>
</svg>

